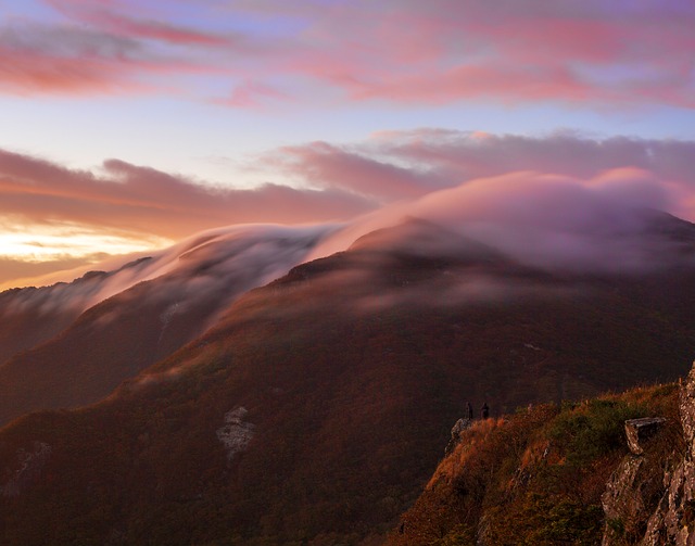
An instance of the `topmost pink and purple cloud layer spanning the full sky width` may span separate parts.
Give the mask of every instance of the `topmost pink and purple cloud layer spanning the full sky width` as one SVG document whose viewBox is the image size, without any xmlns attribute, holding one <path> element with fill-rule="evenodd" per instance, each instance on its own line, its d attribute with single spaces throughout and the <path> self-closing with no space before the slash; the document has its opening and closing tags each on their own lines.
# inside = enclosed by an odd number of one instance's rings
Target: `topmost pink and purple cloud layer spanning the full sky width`
<svg viewBox="0 0 695 546">
<path fill-rule="evenodd" d="M 172 76 L 214 75 L 228 94 L 199 99 L 235 107 L 321 96 L 695 105 L 695 7 L 678 0 L 45 4 L 50 22 L 0 28 L 0 91 L 170 91 L 182 85 Z"/>
</svg>

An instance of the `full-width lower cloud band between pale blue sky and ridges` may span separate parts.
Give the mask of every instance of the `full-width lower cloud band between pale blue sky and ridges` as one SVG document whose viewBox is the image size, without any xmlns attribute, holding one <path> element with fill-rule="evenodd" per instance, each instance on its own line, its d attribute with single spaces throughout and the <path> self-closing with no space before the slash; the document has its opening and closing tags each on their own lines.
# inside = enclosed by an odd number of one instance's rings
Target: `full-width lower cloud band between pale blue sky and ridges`
<svg viewBox="0 0 695 546">
<path fill-rule="evenodd" d="M 534 172 L 657 185 L 673 198 L 667 208 L 695 218 L 693 157 L 692 141 L 420 129 L 382 132 L 353 144 L 282 147 L 252 165 L 268 183 L 235 189 L 119 160 L 108 160 L 98 170 L 76 170 L 0 151 L 0 214 L 180 238 L 228 224 L 344 220 L 470 180 Z M 288 177 L 294 187 L 281 185 Z"/>
</svg>

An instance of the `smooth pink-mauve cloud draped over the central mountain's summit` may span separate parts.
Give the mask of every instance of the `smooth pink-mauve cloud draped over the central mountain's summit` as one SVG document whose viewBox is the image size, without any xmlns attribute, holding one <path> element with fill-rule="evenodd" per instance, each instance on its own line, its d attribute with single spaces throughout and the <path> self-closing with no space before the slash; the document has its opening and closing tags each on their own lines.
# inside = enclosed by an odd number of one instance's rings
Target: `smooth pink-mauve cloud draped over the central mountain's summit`
<svg viewBox="0 0 695 546">
<path fill-rule="evenodd" d="M 479 178 L 384 206 L 324 241 L 315 256 L 344 249 L 380 228 L 418 218 L 502 251 L 521 264 L 571 271 L 643 271 L 692 256 L 659 231 L 653 207 L 669 204 L 668 189 L 633 169 L 579 180 L 533 172 Z M 409 244 L 408 244 L 409 243 Z M 455 241 L 401 241 L 409 252 L 466 252 Z M 470 246 L 467 246 L 470 249 Z M 675 250 L 675 253 L 671 253 Z"/>
</svg>

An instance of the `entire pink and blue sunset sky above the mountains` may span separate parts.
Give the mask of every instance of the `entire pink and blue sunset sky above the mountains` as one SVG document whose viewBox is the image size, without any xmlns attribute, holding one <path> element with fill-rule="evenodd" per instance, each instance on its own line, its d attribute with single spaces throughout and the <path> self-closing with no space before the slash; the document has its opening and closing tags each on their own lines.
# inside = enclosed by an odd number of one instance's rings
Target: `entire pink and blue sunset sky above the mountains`
<svg viewBox="0 0 695 546">
<path fill-rule="evenodd" d="M 0 288 L 500 177 L 695 220 L 694 28 L 695 0 L 0 0 Z"/>
</svg>

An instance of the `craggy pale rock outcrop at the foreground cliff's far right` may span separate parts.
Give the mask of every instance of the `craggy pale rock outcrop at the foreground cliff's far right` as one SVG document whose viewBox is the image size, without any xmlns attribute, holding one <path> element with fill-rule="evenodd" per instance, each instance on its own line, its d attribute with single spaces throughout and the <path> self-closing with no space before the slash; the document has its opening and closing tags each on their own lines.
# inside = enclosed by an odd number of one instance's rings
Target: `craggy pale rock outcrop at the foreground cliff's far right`
<svg viewBox="0 0 695 546">
<path fill-rule="evenodd" d="M 603 546 L 641 544 L 643 546 L 695 545 L 695 365 L 682 384 L 679 412 L 683 427 L 685 454 L 677 453 L 656 467 L 658 474 L 642 472 L 647 466 L 644 443 L 658 440 L 664 419 L 633 419 L 626 422 L 630 455 L 626 456 L 607 484 L 602 501 L 606 516 Z M 655 468 L 654 466 L 652 468 Z M 647 481 L 660 480 L 664 493 L 656 507 L 649 506 L 643 491 Z M 630 535 L 639 528 L 626 529 L 624 522 L 644 522 L 642 536 Z M 643 528 L 642 528 L 643 529 Z"/>
</svg>

